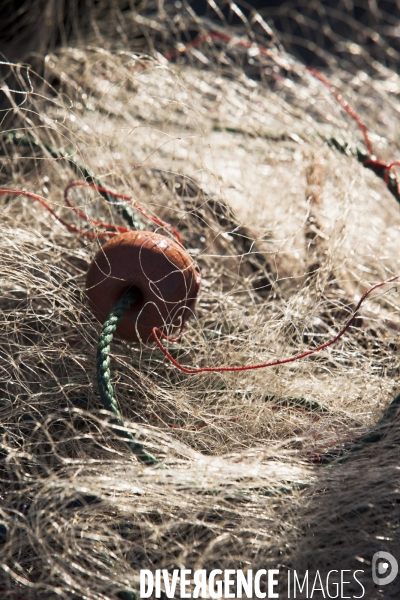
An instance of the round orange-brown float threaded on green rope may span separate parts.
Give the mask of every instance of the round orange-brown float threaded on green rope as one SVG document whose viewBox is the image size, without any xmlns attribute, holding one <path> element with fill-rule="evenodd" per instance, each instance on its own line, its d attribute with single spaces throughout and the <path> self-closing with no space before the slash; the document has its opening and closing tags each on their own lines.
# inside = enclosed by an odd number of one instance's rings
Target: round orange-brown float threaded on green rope
<svg viewBox="0 0 400 600">
<path fill-rule="evenodd" d="M 193 309 L 201 277 L 178 243 L 150 231 L 129 231 L 104 244 L 91 263 L 86 294 L 103 323 L 128 290 L 138 301 L 121 318 L 117 334 L 128 342 L 152 338 L 153 327 L 171 333 Z"/>
</svg>

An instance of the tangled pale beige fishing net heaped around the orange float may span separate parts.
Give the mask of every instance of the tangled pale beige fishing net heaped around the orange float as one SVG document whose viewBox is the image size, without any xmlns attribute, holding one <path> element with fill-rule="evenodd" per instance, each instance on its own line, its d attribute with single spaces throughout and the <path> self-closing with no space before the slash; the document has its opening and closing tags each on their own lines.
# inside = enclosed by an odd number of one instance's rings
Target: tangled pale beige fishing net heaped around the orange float
<svg viewBox="0 0 400 600">
<path fill-rule="evenodd" d="M 0 187 L 40 195 L 80 231 L 99 233 L 97 219 L 169 235 L 77 187 L 83 222 L 63 202 L 83 180 L 179 231 L 202 275 L 167 344 L 186 367 L 316 347 L 400 274 L 395 169 L 366 168 L 357 122 L 301 62 L 303 44 L 390 165 L 395 3 L 349 31 L 340 3 L 311 4 L 209 0 L 199 17 L 180 2 L 95 3 L 79 35 L 68 13 L 70 46 L 36 73 L 2 65 Z M 24 195 L 0 202 L 1 598 L 133 599 L 140 569 L 163 568 L 364 569 L 366 597 L 398 597 L 370 576 L 372 554 L 400 545 L 395 283 L 335 345 L 265 370 L 186 375 L 155 344 L 115 338 L 124 426 L 168 468 L 148 467 L 96 384 L 101 326 L 84 289 L 103 240 Z"/>
</svg>

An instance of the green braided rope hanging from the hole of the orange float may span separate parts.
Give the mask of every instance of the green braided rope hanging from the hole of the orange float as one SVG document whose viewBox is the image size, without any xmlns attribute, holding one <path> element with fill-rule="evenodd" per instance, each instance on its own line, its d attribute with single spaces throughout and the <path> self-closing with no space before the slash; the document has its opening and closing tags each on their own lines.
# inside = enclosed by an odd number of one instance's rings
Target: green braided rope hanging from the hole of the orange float
<svg viewBox="0 0 400 600">
<path fill-rule="evenodd" d="M 136 454 L 138 459 L 145 465 L 159 464 L 159 461 L 149 454 L 142 444 L 135 441 L 134 436 L 124 429 L 124 421 L 119 410 L 118 402 L 114 395 L 114 389 L 110 383 L 110 344 L 114 337 L 118 321 L 123 317 L 128 308 L 138 300 L 138 293 L 135 291 L 127 292 L 114 306 L 108 319 L 103 325 L 97 346 L 97 384 L 100 392 L 100 399 L 106 410 L 113 413 L 112 423 L 118 425 L 116 432 L 125 441 L 130 450 Z"/>
</svg>

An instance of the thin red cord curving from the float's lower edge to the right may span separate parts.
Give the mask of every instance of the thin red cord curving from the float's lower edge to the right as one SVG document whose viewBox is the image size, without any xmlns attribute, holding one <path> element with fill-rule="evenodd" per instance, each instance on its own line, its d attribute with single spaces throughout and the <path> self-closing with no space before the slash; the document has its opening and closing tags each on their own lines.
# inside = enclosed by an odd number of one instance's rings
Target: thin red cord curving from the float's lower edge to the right
<svg viewBox="0 0 400 600">
<path fill-rule="evenodd" d="M 321 344 L 320 346 L 317 346 L 316 348 L 313 348 L 312 350 L 306 350 L 305 352 L 301 352 L 300 354 L 295 354 L 294 356 L 289 356 L 288 358 L 281 358 L 279 360 L 274 360 L 272 362 L 266 362 L 266 363 L 261 363 L 261 364 L 257 364 L 257 365 L 246 365 L 246 366 L 242 366 L 242 367 L 240 367 L 240 366 L 239 367 L 200 367 L 198 369 L 188 369 L 187 367 L 184 367 L 183 365 L 178 363 L 178 361 L 175 360 L 175 358 L 168 352 L 168 350 L 161 343 L 161 338 L 165 339 L 169 342 L 176 342 L 180 339 L 180 337 L 181 337 L 180 335 L 177 338 L 169 338 L 167 335 L 165 335 L 165 333 L 163 333 L 161 331 L 161 329 L 159 329 L 158 327 L 154 327 L 153 328 L 153 337 L 154 337 L 154 340 L 155 340 L 157 346 L 160 348 L 161 352 L 170 360 L 170 362 L 177 369 L 179 369 L 183 373 L 187 373 L 188 375 L 192 375 L 194 373 L 221 373 L 221 372 L 226 372 L 226 371 L 228 371 L 228 372 L 230 372 L 230 371 L 253 371 L 255 369 L 276 367 L 278 365 L 283 365 L 286 363 L 294 362 L 301 358 L 305 358 L 306 356 L 310 356 L 311 354 L 315 354 L 316 352 L 320 352 L 321 350 L 324 350 L 324 348 L 328 348 L 329 346 L 332 346 L 332 344 L 337 342 L 338 339 L 340 339 L 342 337 L 342 335 L 348 330 L 348 328 L 350 327 L 350 325 L 356 318 L 357 313 L 361 307 L 361 304 L 364 302 L 365 298 L 371 292 L 376 290 L 377 288 L 380 288 L 383 285 L 386 285 L 387 283 L 391 283 L 392 281 L 396 281 L 396 279 L 399 279 L 399 278 L 400 278 L 400 275 L 395 275 L 394 277 L 391 277 L 390 279 L 387 279 L 386 281 L 381 281 L 380 283 L 376 283 L 371 288 L 369 288 L 369 290 L 367 290 L 361 296 L 361 298 L 353 312 L 352 317 L 347 321 L 346 325 L 339 331 L 338 334 L 335 335 L 335 337 L 333 337 L 328 342 L 325 342 L 324 344 Z"/>
</svg>

